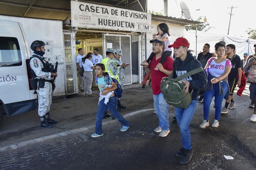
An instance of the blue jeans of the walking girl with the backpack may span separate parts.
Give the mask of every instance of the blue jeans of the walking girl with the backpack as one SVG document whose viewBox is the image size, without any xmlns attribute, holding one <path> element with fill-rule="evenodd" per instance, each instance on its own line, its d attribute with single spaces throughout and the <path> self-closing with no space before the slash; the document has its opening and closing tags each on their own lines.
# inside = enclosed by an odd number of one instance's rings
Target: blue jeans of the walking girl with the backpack
<svg viewBox="0 0 256 170">
<path fill-rule="evenodd" d="M 123 125 L 123 126 L 130 126 L 130 124 L 125 120 L 125 118 L 118 112 L 116 109 L 117 102 L 116 97 L 110 97 L 107 104 L 104 103 L 105 98 L 103 98 L 99 102 L 99 107 L 96 114 L 96 125 L 95 125 L 95 133 L 98 135 L 102 135 L 102 118 L 106 111 L 109 109 L 111 114 Z"/>
</svg>

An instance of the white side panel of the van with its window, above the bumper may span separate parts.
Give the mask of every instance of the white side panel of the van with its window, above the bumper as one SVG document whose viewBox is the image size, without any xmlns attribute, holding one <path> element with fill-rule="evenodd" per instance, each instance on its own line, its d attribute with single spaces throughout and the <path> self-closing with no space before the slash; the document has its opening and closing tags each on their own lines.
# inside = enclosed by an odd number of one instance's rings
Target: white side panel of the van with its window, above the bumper
<svg viewBox="0 0 256 170">
<path fill-rule="evenodd" d="M 25 44 L 19 24 L 1 20 L 0 100 L 4 104 L 30 100 Z"/>
</svg>

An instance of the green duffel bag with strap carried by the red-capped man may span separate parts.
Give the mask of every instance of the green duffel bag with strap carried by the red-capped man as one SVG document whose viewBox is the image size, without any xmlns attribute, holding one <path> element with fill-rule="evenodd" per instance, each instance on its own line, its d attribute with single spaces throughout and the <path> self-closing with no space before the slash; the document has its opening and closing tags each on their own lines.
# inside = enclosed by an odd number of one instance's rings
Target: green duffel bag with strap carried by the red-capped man
<svg viewBox="0 0 256 170">
<path fill-rule="evenodd" d="M 164 78 L 161 82 L 160 89 L 165 101 L 174 107 L 187 108 L 192 99 L 191 93 L 185 93 L 185 83 L 180 80 L 203 70 L 202 67 L 199 67 L 174 79 L 172 78 L 173 73 L 169 77 Z"/>
</svg>

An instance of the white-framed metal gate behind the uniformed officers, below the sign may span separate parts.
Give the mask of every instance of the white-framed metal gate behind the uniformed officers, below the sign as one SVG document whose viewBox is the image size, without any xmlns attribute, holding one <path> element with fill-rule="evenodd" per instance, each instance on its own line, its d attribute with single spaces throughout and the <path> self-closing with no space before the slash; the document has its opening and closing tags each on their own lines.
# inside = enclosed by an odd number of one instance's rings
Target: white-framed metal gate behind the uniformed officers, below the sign
<svg viewBox="0 0 256 170">
<path fill-rule="evenodd" d="M 125 83 L 124 85 L 132 84 L 132 64 L 131 64 L 131 36 L 118 34 L 103 34 L 103 56 L 106 54 L 108 48 L 119 48 L 123 55 L 121 61 L 123 63 L 130 63 L 130 66 L 125 69 Z"/>
</svg>

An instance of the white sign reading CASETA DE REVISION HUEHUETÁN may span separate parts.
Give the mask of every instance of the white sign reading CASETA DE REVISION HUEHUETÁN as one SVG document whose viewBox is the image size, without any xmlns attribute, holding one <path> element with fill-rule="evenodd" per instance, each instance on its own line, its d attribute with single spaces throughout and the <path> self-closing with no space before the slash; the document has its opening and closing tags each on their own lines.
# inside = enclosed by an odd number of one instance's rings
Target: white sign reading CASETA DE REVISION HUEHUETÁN
<svg viewBox="0 0 256 170">
<path fill-rule="evenodd" d="M 71 26 L 131 32 L 150 32 L 151 14 L 71 1 Z"/>
</svg>

